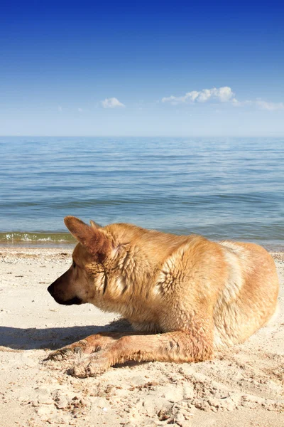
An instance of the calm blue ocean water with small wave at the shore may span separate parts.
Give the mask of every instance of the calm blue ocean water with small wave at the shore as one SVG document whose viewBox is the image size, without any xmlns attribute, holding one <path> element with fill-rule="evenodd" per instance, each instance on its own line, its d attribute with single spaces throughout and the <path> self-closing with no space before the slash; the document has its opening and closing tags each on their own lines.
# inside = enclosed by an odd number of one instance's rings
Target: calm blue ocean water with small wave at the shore
<svg viewBox="0 0 284 427">
<path fill-rule="evenodd" d="M 284 138 L 1 137 L 0 243 L 71 244 L 63 218 L 284 248 Z"/>
</svg>

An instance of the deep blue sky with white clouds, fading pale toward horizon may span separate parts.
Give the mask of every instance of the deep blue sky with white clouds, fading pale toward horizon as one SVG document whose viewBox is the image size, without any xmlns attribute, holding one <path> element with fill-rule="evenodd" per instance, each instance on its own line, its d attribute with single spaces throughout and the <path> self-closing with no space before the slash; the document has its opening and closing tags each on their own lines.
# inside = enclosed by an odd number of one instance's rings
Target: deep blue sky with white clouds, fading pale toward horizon
<svg viewBox="0 0 284 427">
<path fill-rule="evenodd" d="M 2 1 L 0 135 L 284 136 L 284 3 Z"/>
</svg>

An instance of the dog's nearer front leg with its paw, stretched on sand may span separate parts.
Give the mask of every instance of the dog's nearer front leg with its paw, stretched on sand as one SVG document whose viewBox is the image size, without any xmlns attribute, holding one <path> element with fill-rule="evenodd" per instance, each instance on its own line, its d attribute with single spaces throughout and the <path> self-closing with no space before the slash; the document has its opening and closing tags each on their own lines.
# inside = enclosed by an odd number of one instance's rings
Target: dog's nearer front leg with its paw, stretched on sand
<svg viewBox="0 0 284 427">
<path fill-rule="evenodd" d="M 92 354 L 70 370 L 85 378 L 106 371 L 114 364 L 137 362 L 200 362 L 213 355 L 212 334 L 176 331 L 155 335 L 125 335 L 104 350 Z"/>
</svg>

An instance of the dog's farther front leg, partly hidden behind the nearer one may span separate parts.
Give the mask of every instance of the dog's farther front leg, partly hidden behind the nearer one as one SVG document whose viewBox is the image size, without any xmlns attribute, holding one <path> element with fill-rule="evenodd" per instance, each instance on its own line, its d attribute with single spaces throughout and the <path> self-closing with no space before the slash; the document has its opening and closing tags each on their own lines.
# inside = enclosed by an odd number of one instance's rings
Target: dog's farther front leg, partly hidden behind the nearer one
<svg viewBox="0 0 284 427">
<path fill-rule="evenodd" d="M 73 342 L 70 345 L 50 353 L 45 360 L 60 361 L 63 359 L 70 359 L 73 356 L 99 352 L 121 337 L 138 333 L 139 332 L 100 332 L 99 334 L 89 335 L 89 337 L 80 339 L 80 341 Z"/>
</svg>

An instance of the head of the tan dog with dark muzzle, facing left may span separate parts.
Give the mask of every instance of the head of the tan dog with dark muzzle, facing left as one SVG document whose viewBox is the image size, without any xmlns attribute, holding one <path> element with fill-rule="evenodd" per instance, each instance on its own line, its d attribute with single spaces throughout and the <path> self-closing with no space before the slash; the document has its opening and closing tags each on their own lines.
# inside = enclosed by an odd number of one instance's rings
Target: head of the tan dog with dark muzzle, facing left
<svg viewBox="0 0 284 427">
<path fill-rule="evenodd" d="M 99 300 L 107 287 L 107 270 L 114 260 L 112 236 L 91 221 L 91 226 L 74 216 L 66 216 L 65 225 L 79 241 L 72 265 L 48 287 L 56 302 L 64 305 Z"/>
</svg>

